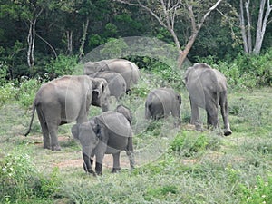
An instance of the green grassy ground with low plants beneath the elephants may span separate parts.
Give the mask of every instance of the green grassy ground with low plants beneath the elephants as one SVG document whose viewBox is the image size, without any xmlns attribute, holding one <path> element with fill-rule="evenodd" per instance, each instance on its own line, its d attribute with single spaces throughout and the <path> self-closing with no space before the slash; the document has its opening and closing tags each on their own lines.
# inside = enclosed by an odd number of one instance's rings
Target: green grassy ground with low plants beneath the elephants
<svg viewBox="0 0 272 204">
<path fill-rule="evenodd" d="M 128 170 L 128 159 L 122 155 L 121 173 L 111 174 L 112 159 L 107 156 L 101 177 L 84 173 L 71 124 L 60 127 L 62 151 L 44 150 L 37 118 L 25 138 L 30 111 L 15 102 L 5 103 L 0 109 L 1 180 L 5 182 L 0 184 L 0 202 L 271 203 L 271 88 L 229 91 L 233 131 L 229 137 L 194 131 L 187 122 L 187 92 L 181 95 L 179 130 L 171 129 L 167 121 L 147 129 L 141 120 L 142 101 L 137 105 L 138 99 L 124 99 L 134 113 L 137 167 Z"/>
</svg>

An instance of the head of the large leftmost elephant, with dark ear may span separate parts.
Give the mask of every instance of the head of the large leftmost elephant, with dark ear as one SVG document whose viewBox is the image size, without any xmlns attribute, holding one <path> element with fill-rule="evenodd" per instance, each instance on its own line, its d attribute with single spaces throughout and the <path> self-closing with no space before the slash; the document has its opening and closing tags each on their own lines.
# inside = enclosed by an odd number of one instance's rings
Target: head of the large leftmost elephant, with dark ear
<svg viewBox="0 0 272 204">
<path fill-rule="evenodd" d="M 102 108 L 102 112 L 109 110 L 110 90 L 106 80 L 92 78 L 92 105 Z"/>
</svg>

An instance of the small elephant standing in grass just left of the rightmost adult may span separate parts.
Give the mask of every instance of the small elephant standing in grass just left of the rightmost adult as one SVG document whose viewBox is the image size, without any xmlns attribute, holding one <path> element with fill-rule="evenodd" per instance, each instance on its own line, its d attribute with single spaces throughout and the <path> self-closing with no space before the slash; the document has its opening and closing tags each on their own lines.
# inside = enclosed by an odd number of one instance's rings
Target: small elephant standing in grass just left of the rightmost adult
<svg viewBox="0 0 272 204">
<path fill-rule="evenodd" d="M 158 120 L 167 118 L 170 113 L 180 124 L 180 93 L 171 88 L 158 88 L 149 92 L 145 102 L 145 118 Z"/>
</svg>

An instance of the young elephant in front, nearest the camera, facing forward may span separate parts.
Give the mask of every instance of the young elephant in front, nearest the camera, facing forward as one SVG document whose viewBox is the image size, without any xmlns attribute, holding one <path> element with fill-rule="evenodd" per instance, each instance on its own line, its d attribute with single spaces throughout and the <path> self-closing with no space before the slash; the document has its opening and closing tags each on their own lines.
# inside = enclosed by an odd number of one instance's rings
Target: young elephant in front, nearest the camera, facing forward
<svg viewBox="0 0 272 204">
<path fill-rule="evenodd" d="M 112 172 L 120 170 L 120 152 L 126 151 L 134 168 L 132 130 L 129 121 L 120 112 L 102 112 L 90 121 L 73 125 L 72 134 L 83 147 L 83 169 L 93 175 L 102 174 L 104 154 L 112 154 Z M 92 158 L 95 156 L 95 172 Z"/>
</svg>

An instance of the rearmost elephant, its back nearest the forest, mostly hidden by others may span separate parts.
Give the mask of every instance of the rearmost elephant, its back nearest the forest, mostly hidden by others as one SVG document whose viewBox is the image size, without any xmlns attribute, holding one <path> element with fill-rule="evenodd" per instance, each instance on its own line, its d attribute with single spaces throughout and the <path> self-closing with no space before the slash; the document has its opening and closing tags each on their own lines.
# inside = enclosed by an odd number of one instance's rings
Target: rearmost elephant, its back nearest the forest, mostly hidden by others
<svg viewBox="0 0 272 204">
<path fill-rule="evenodd" d="M 120 73 L 126 81 L 127 91 L 131 89 L 131 83 L 137 83 L 140 78 L 139 68 L 135 63 L 123 59 L 110 59 L 84 64 L 84 74 L 112 71 Z"/>
</svg>

